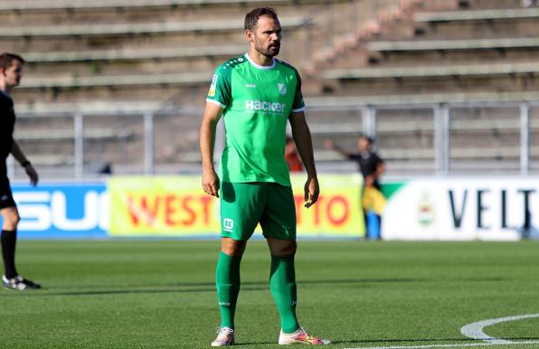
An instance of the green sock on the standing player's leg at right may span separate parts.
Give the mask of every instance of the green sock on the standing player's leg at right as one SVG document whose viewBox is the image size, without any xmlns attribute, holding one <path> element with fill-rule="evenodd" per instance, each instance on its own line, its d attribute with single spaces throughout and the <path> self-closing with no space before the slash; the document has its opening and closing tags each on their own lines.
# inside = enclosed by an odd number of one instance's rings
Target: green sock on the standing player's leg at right
<svg viewBox="0 0 539 349">
<path fill-rule="evenodd" d="M 291 334 L 299 328 L 296 317 L 294 255 L 282 257 L 271 255 L 270 289 L 279 310 L 282 331 Z"/>
</svg>

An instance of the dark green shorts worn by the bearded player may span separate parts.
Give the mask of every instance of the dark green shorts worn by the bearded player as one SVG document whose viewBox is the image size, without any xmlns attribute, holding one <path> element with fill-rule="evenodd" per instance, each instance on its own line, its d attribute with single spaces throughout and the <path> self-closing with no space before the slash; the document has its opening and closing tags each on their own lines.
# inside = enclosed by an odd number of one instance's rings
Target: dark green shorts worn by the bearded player
<svg viewBox="0 0 539 349">
<path fill-rule="evenodd" d="M 266 238 L 296 240 L 292 188 L 276 183 L 221 184 L 221 236 L 248 241 L 258 223 Z"/>
</svg>

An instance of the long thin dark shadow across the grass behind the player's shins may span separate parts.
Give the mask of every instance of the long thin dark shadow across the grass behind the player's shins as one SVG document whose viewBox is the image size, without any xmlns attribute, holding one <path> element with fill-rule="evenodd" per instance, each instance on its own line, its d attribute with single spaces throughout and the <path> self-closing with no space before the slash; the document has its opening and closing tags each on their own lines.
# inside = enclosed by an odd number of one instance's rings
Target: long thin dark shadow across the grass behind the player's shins
<svg viewBox="0 0 539 349">
<path fill-rule="evenodd" d="M 358 279 L 326 279 L 298 281 L 298 285 L 322 285 L 322 284 L 367 284 L 367 283 L 407 283 L 421 282 L 422 278 L 358 278 Z M 119 288 L 119 289 L 118 289 Z M 116 289 L 83 289 L 80 291 L 60 291 L 58 288 L 42 288 L 40 290 L 9 290 L 0 294 L 0 297 L 53 297 L 53 296 L 107 296 L 119 294 L 140 294 L 140 293 L 194 293 L 194 292 L 215 292 L 213 282 L 182 282 L 158 287 L 134 286 L 118 287 Z M 241 282 L 241 292 L 260 291 L 269 289 L 269 281 Z"/>
</svg>

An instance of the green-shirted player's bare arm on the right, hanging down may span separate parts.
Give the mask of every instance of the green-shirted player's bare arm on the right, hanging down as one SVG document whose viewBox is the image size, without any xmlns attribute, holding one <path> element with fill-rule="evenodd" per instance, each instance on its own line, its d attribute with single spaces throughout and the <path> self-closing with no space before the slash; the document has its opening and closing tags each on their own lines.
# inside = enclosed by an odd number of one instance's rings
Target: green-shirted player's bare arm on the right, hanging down
<svg viewBox="0 0 539 349">
<path fill-rule="evenodd" d="M 318 200 L 320 189 L 318 188 L 317 167 L 313 154 L 313 141 L 303 111 L 292 112 L 288 118 L 292 128 L 292 136 L 298 148 L 298 154 L 307 171 L 307 183 L 305 184 L 305 207 L 310 207 Z"/>
</svg>

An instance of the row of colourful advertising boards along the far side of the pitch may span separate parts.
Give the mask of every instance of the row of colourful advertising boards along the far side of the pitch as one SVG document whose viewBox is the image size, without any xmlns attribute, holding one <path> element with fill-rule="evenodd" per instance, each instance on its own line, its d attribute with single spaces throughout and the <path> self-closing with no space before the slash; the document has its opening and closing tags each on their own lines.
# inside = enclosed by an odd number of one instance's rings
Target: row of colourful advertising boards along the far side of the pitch
<svg viewBox="0 0 539 349">
<path fill-rule="evenodd" d="M 361 177 L 323 174 L 317 205 L 303 208 L 304 175 L 292 176 L 298 238 L 365 235 Z M 539 237 L 539 178 L 429 177 L 385 182 L 384 240 L 518 241 Z M 219 236 L 219 202 L 198 176 L 111 176 L 93 183 L 14 184 L 23 239 Z M 260 231 L 257 233 L 260 236 Z M 255 235 L 256 236 L 256 235 Z"/>
</svg>

